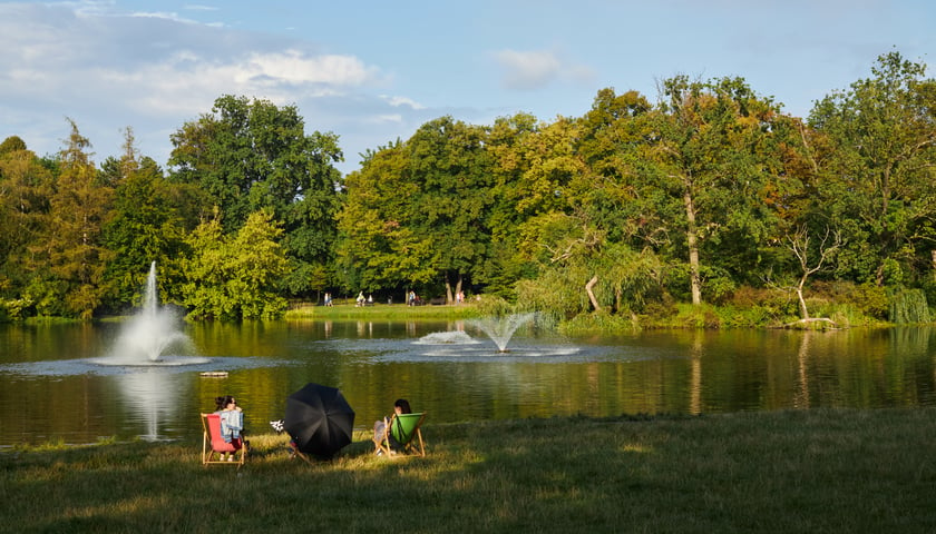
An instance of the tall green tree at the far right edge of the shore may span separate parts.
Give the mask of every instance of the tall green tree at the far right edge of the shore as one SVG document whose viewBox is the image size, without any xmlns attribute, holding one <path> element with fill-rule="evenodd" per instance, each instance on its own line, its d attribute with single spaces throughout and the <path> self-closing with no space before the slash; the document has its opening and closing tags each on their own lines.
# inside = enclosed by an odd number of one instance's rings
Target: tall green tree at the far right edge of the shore
<svg viewBox="0 0 936 534">
<path fill-rule="evenodd" d="M 905 284 L 929 270 L 936 238 L 936 81 L 894 51 L 871 78 L 816 103 L 809 123 L 830 144 L 817 189 L 847 244 L 839 276 Z M 925 244 L 920 247 L 922 244 Z"/>
</svg>

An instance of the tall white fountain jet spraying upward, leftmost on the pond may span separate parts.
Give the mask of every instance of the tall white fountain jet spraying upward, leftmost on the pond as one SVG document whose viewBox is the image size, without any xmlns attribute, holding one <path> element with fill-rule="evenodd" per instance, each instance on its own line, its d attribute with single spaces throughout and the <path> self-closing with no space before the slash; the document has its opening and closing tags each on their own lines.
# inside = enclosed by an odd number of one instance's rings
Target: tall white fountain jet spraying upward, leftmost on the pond
<svg viewBox="0 0 936 534">
<path fill-rule="evenodd" d="M 207 358 L 169 353 L 191 353 L 193 349 L 192 340 L 178 329 L 177 324 L 175 312 L 159 305 L 156 261 L 153 261 L 143 294 L 143 309 L 124 325 L 110 356 L 95 362 L 103 365 L 193 365 L 209 362 Z"/>
</svg>

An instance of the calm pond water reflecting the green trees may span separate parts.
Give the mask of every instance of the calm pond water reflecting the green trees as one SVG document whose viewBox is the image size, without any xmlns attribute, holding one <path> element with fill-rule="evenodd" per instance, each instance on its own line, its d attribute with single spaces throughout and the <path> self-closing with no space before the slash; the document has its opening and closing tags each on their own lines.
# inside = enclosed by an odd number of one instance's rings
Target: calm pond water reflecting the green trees
<svg viewBox="0 0 936 534">
<path fill-rule="evenodd" d="M 177 365 L 103 365 L 119 334 L 0 325 L 0 448 L 196 437 L 198 413 L 224 394 L 248 429 L 270 432 L 309 382 L 339 387 L 358 428 L 398 397 L 440 423 L 936 405 L 936 329 L 924 327 L 566 338 L 525 325 L 499 352 L 471 322 L 197 324 Z"/>
</svg>

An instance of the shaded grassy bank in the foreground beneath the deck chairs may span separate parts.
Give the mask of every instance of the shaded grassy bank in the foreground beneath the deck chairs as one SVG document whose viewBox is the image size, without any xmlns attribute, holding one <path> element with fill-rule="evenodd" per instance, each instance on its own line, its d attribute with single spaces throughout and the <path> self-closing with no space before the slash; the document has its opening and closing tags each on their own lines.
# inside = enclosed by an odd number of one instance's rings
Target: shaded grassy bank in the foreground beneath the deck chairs
<svg viewBox="0 0 936 534">
<path fill-rule="evenodd" d="M 936 528 L 936 411 L 432 425 L 426 458 L 241 471 L 199 443 L 0 454 L 0 532 L 901 532 Z"/>
</svg>

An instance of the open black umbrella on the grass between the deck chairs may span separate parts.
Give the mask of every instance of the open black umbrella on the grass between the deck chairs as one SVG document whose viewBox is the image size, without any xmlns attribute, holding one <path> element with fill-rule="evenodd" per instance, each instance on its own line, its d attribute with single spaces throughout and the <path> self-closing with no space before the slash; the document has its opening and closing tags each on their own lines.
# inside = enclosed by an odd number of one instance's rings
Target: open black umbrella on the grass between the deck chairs
<svg viewBox="0 0 936 534">
<path fill-rule="evenodd" d="M 354 411 L 338 388 L 309 383 L 286 397 L 283 428 L 301 452 L 331 457 L 351 443 Z"/>
</svg>

